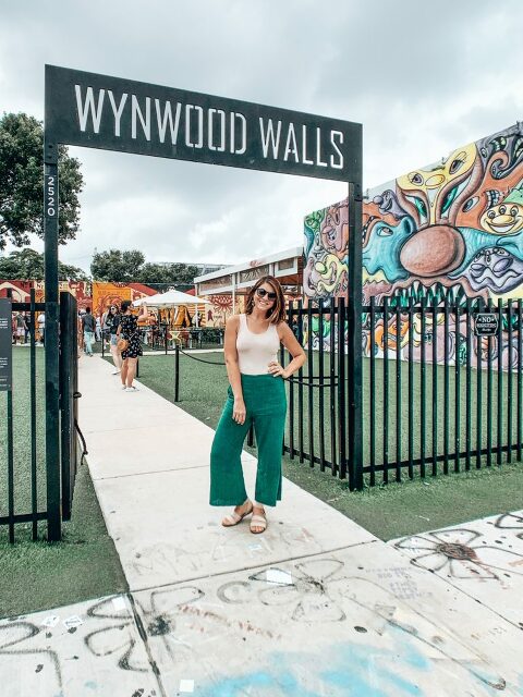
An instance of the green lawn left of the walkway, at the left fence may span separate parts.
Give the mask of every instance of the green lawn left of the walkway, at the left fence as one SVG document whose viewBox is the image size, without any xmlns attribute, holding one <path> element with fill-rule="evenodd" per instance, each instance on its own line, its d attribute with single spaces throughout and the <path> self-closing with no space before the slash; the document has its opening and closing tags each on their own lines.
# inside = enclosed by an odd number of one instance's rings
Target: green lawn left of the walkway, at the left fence
<svg viewBox="0 0 523 697">
<path fill-rule="evenodd" d="M 31 513 L 29 351 L 13 351 L 13 412 L 15 510 Z M 0 393 L 0 515 L 7 515 L 7 395 Z M 44 352 L 37 352 L 37 465 L 38 500 L 45 510 Z M 17 525 L 16 542 L 8 541 L 0 526 L 0 617 L 25 614 L 126 590 L 126 582 L 108 536 L 88 469 L 82 465 L 76 478 L 73 515 L 63 524 L 63 541 L 31 540 L 31 528 Z"/>
</svg>

